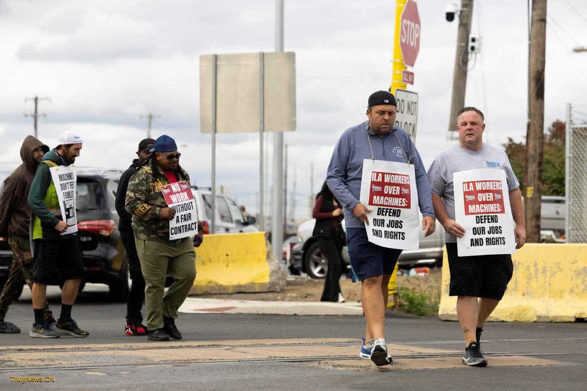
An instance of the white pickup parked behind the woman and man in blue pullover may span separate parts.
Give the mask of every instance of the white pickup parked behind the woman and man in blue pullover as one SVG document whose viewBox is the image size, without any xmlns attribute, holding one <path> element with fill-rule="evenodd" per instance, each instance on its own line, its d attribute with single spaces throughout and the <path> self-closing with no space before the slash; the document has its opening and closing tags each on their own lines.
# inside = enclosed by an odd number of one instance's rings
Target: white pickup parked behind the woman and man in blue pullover
<svg viewBox="0 0 587 391">
<path fill-rule="evenodd" d="M 420 215 L 420 223 L 422 216 Z M 298 226 L 298 238 L 300 243 L 292 248 L 290 272 L 298 274 L 300 271 L 307 273 L 312 278 L 324 278 L 328 271 L 328 259 L 323 256 L 318 247 L 318 238 L 312 236 L 315 219 L 303 222 Z M 343 220 L 343 229 L 345 222 Z M 409 268 L 419 264 L 442 265 L 444 246 L 444 229 L 440 224 L 436 224 L 436 231 L 428 237 L 424 237 L 424 232 L 420 230 L 420 249 L 404 250 L 397 260 L 402 268 Z M 345 261 L 347 268 L 350 268 L 349 251 L 345 247 L 342 249 L 342 259 Z"/>
</svg>

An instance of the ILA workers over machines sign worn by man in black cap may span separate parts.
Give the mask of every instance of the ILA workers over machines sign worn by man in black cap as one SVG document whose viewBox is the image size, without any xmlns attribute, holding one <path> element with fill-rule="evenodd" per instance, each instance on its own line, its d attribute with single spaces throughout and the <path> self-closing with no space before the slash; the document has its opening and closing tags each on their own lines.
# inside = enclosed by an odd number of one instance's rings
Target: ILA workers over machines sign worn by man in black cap
<svg viewBox="0 0 587 391">
<path fill-rule="evenodd" d="M 390 249 L 419 248 L 413 164 L 364 159 L 360 200 L 372 210 L 365 225 L 369 242 Z"/>
</svg>

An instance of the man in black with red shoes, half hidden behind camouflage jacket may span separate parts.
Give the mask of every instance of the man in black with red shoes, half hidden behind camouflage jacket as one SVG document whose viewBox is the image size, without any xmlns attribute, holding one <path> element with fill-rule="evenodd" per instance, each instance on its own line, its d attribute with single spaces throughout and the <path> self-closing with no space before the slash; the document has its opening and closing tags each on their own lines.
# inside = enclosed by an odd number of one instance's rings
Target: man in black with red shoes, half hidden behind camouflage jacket
<svg viewBox="0 0 587 391">
<path fill-rule="evenodd" d="M 131 225 L 131 215 L 124 209 L 124 200 L 126 199 L 126 189 L 129 186 L 129 180 L 137 169 L 139 169 L 151 157 L 149 151 L 153 148 L 155 140 L 145 138 L 139 142 L 137 150 L 138 159 L 134 159 L 130 167 L 120 176 L 118 189 L 116 191 L 116 212 L 120 216 L 119 232 L 120 239 L 124 244 L 126 255 L 129 259 L 130 278 L 133 281 L 130 285 L 129 298 L 126 301 L 126 325 L 124 326 L 125 335 L 147 335 L 147 327 L 143 324 L 143 315 L 141 308 L 145 301 L 145 280 L 141 272 L 137 247 L 134 244 L 134 233 Z"/>
</svg>

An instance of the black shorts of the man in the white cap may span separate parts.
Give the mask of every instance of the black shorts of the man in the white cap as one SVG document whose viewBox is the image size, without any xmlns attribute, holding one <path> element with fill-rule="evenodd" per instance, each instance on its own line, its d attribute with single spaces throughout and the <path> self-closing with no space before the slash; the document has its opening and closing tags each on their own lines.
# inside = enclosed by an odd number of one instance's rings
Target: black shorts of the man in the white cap
<svg viewBox="0 0 587 391">
<path fill-rule="evenodd" d="M 82 249 L 77 236 L 63 240 L 35 240 L 33 281 L 52 284 L 82 278 L 84 274 Z"/>
</svg>

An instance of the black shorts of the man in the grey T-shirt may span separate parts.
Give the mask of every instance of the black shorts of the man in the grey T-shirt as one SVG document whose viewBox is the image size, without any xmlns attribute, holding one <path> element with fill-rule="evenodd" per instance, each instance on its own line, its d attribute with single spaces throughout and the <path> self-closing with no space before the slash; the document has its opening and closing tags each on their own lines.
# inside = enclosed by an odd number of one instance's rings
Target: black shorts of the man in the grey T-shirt
<svg viewBox="0 0 587 391">
<path fill-rule="evenodd" d="M 510 254 L 459 257 L 457 243 L 447 243 L 450 296 L 501 300 L 514 273 Z"/>
</svg>

